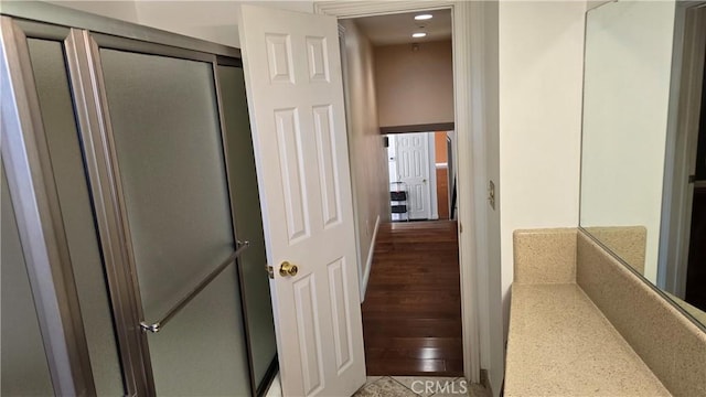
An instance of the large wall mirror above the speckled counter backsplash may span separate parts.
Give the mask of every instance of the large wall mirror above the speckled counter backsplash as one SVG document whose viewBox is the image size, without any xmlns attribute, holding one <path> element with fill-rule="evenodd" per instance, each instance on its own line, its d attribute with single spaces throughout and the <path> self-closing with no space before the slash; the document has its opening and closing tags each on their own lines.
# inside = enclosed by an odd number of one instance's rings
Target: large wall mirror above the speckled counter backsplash
<svg viewBox="0 0 706 397">
<path fill-rule="evenodd" d="M 703 6 L 613 1 L 587 12 L 580 227 L 706 324 L 706 211 L 687 181 L 699 120 L 706 144 Z"/>
</svg>

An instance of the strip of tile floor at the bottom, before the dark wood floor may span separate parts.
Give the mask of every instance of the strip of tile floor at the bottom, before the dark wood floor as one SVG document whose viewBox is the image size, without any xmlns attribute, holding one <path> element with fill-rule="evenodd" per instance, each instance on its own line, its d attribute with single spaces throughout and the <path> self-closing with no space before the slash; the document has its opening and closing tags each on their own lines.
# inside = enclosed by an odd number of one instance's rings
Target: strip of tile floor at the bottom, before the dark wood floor
<svg viewBox="0 0 706 397">
<path fill-rule="evenodd" d="M 368 376 L 353 397 L 490 397 L 481 385 L 467 384 L 457 377 Z M 267 397 L 282 397 L 279 375 L 267 391 Z"/>
</svg>

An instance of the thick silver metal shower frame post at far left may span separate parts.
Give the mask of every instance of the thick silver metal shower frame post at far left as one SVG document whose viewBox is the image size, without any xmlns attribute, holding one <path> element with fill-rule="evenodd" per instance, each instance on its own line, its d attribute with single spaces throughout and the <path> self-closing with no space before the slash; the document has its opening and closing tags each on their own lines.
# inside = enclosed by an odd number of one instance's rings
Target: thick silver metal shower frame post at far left
<svg viewBox="0 0 706 397">
<path fill-rule="evenodd" d="M 54 393 L 96 394 L 68 244 L 39 97 L 22 29 L 0 18 L 2 33 L 2 161 L 38 311 Z M 49 29 L 61 39 L 66 29 Z"/>
</svg>

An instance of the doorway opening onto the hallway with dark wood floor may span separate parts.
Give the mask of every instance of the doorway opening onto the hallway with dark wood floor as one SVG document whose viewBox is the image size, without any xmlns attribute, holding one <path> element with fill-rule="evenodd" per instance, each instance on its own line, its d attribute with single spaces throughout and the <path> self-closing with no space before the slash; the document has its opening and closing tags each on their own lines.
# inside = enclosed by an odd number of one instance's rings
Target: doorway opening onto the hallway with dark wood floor
<svg viewBox="0 0 706 397">
<path fill-rule="evenodd" d="M 354 212 L 360 255 L 367 255 L 361 298 L 372 378 L 364 389 L 464 375 L 448 187 L 456 158 L 451 17 L 446 9 L 340 20 Z"/>
</svg>

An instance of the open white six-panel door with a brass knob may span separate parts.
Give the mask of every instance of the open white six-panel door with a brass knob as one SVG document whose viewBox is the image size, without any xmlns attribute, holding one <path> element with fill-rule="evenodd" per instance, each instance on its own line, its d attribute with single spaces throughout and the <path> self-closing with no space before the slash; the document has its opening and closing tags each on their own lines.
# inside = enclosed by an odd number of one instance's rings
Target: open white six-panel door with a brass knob
<svg viewBox="0 0 706 397">
<path fill-rule="evenodd" d="M 335 18 L 255 6 L 239 24 L 286 396 L 365 383 Z M 280 265 L 298 267 L 280 275 Z"/>
</svg>

